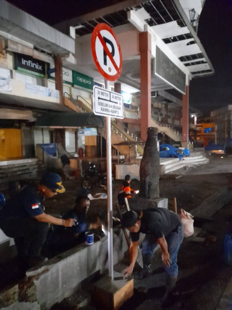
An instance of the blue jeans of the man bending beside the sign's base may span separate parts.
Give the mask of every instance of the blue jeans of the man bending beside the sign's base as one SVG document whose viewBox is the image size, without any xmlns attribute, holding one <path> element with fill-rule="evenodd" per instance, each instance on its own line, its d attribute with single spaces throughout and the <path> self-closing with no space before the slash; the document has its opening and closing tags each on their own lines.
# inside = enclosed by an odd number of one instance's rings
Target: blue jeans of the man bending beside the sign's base
<svg viewBox="0 0 232 310">
<path fill-rule="evenodd" d="M 177 255 L 183 238 L 184 233 L 182 223 L 178 226 L 175 232 L 170 232 L 170 234 L 165 237 L 172 263 L 170 267 L 164 266 L 164 269 L 165 272 L 171 277 L 177 277 L 178 275 Z M 142 242 L 142 255 L 147 255 L 149 259 L 152 259 L 153 251 L 156 246 L 157 239 L 153 235 L 147 234 Z"/>
</svg>

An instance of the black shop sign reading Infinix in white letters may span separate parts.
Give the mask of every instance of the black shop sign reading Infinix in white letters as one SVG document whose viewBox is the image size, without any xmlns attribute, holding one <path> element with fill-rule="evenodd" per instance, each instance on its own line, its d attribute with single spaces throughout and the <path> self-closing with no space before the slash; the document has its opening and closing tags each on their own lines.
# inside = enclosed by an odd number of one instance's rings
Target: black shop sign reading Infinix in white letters
<svg viewBox="0 0 232 310">
<path fill-rule="evenodd" d="M 15 53 L 15 70 L 45 78 L 45 62 L 28 55 Z"/>
</svg>

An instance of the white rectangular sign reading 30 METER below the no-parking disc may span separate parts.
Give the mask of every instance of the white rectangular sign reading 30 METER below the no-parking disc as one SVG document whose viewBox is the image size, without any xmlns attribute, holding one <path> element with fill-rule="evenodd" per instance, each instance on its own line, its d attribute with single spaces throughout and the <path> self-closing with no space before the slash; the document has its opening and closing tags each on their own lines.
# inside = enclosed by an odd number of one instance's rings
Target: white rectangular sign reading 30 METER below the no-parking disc
<svg viewBox="0 0 232 310">
<path fill-rule="evenodd" d="M 123 97 L 104 88 L 93 87 L 93 112 L 96 115 L 124 118 Z"/>
</svg>

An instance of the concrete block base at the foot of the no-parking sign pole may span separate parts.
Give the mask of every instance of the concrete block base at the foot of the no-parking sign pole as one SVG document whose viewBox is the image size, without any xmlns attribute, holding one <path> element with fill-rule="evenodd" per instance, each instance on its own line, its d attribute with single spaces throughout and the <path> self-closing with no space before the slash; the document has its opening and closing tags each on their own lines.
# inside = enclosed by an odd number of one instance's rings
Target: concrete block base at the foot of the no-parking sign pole
<svg viewBox="0 0 232 310">
<path fill-rule="evenodd" d="M 108 274 L 94 284 L 92 302 L 99 309 L 119 309 L 134 294 L 134 279 L 123 279 L 122 274 L 114 272 L 114 280 Z"/>
</svg>

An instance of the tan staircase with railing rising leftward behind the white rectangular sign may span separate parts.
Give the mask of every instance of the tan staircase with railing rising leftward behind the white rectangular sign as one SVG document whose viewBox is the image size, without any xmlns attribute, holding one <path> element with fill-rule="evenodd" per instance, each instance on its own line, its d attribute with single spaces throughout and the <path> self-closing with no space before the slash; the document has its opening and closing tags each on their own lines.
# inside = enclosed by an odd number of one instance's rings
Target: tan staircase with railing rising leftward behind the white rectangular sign
<svg viewBox="0 0 232 310">
<path fill-rule="evenodd" d="M 68 94 L 65 93 L 67 96 Z M 77 96 L 77 99 L 72 98 L 68 95 L 68 99 L 72 104 L 75 105 L 76 111 L 79 113 L 92 113 L 91 104 L 85 100 L 82 96 Z M 105 138 L 105 128 L 99 128 L 99 133 Z M 111 144 L 117 144 L 122 141 L 141 141 L 139 137 L 134 135 L 128 130 L 127 127 L 123 126 L 121 123 L 116 123 L 111 118 Z M 140 155 L 143 155 L 144 147 L 141 145 L 135 145 L 135 151 Z"/>
</svg>

